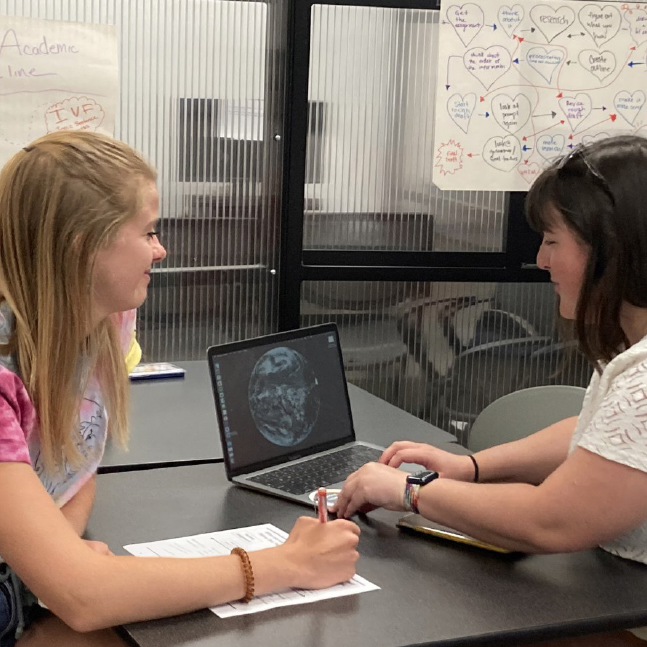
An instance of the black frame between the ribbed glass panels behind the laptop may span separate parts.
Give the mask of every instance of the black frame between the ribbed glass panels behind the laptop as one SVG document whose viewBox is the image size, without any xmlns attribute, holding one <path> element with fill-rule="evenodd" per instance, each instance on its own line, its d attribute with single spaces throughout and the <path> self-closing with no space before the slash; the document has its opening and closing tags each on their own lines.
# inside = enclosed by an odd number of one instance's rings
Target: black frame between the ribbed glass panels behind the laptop
<svg viewBox="0 0 647 647">
<path fill-rule="evenodd" d="M 439 0 L 288 0 L 279 330 L 300 326 L 303 281 L 547 281 L 546 272 L 538 270 L 535 265 L 539 236 L 526 223 L 523 192 L 508 194 L 505 252 L 326 251 L 303 248 L 310 28 L 312 6 L 315 4 L 391 9 L 440 8 Z"/>
</svg>

